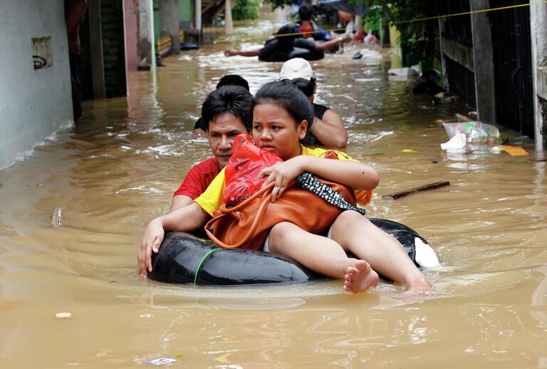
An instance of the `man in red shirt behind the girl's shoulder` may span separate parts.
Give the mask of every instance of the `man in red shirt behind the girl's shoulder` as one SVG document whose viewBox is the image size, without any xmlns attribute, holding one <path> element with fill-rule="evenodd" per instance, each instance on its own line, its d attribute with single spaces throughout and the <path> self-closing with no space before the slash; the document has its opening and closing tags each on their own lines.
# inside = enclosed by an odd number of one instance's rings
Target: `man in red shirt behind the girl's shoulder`
<svg viewBox="0 0 547 369">
<path fill-rule="evenodd" d="M 207 140 L 214 157 L 192 167 L 174 192 L 169 212 L 192 204 L 226 166 L 236 136 L 251 131 L 253 96 L 239 86 L 214 90 L 203 103 L 202 118 L 207 122 Z"/>
</svg>

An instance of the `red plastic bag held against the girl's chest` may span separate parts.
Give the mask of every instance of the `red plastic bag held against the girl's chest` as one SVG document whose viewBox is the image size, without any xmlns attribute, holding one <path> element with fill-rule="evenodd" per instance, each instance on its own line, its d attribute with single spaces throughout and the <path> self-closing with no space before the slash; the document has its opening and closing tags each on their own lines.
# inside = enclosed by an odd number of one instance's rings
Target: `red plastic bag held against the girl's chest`
<svg viewBox="0 0 547 369">
<path fill-rule="evenodd" d="M 249 135 L 238 135 L 232 147 L 234 153 L 224 170 L 226 192 L 222 197 L 222 202 L 228 205 L 240 204 L 249 199 L 266 180 L 256 178 L 261 170 L 283 161 L 281 157 L 256 147 Z"/>
</svg>

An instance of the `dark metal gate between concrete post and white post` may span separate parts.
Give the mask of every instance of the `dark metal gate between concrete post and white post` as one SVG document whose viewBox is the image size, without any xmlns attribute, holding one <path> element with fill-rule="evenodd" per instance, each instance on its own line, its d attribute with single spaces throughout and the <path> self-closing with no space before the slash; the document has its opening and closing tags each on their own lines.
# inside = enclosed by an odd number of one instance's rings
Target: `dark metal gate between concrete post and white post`
<svg viewBox="0 0 547 369">
<path fill-rule="evenodd" d="M 527 0 L 490 0 L 490 8 Z M 530 8 L 489 11 L 494 48 L 496 121 L 534 138 Z"/>
</svg>

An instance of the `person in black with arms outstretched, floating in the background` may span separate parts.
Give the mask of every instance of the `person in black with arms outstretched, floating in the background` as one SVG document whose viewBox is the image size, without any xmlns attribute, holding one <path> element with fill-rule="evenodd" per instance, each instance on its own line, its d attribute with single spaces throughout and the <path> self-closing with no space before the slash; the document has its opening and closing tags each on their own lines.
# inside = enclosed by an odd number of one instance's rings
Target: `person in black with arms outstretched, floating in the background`
<svg viewBox="0 0 547 369">
<path fill-rule="evenodd" d="M 283 36 L 288 35 L 288 36 Z M 293 24 L 287 24 L 279 28 L 279 31 L 273 38 L 269 38 L 264 43 L 264 47 L 255 50 L 240 51 L 226 50 L 226 56 L 258 56 L 261 61 L 286 61 L 288 53 L 293 48 L 303 48 L 309 51 L 325 51 L 341 43 L 348 43 L 351 38 L 344 36 L 330 41 L 316 42 L 309 38 L 303 38 L 298 35 L 298 31 Z"/>
</svg>

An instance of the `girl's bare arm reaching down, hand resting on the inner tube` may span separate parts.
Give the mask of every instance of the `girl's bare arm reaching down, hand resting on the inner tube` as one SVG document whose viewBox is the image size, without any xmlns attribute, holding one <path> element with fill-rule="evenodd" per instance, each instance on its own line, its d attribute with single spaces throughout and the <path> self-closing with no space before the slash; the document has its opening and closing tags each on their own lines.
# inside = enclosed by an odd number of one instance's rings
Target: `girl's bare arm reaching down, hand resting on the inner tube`
<svg viewBox="0 0 547 369">
<path fill-rule="evenodd" d="M 209 214 L 194 202 L 162 217 L 152 219 L 146 227 L 145 236 L 137 254 L 140 275 L 146 276 L 147 272 L 152 271 L 152 251 L 157 254 L 160 250 L 166 231 L 192 232 L 203 227 L 209 218 Z"/>
</svg>

